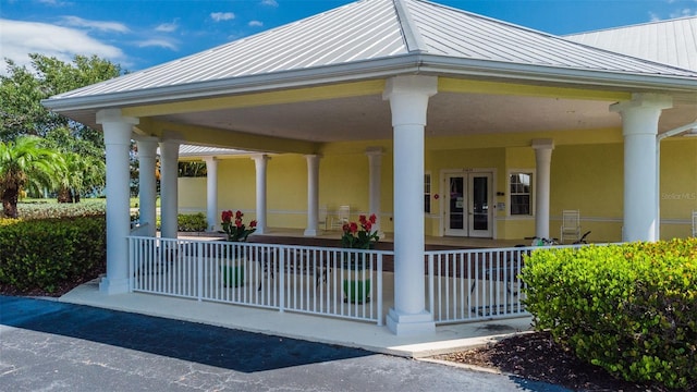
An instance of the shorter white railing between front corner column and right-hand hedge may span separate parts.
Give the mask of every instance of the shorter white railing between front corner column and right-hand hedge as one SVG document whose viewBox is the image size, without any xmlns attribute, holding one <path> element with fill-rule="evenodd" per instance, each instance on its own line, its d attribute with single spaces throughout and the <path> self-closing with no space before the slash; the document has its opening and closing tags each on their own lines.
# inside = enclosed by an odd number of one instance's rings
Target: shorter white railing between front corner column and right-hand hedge
<svg viewBox="0 0 697 392">
<path fill-rule="evenodd" d="M 427 298 L 436 323 L 527 316 L 519 271 L 533 249 L 427 252 Z"/>
</svg>

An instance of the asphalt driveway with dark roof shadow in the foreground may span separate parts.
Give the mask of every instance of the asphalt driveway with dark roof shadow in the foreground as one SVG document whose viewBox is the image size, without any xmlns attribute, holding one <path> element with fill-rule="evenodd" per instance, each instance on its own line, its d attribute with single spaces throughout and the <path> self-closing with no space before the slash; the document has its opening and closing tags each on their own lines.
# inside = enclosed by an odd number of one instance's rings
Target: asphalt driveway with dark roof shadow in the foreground
<svg viewBox="0 0 697 392">
<path fill-rule="evenodd" d="M 0 296 L 3 391 L 565 391 L 357 348 Z"/>
</svg>

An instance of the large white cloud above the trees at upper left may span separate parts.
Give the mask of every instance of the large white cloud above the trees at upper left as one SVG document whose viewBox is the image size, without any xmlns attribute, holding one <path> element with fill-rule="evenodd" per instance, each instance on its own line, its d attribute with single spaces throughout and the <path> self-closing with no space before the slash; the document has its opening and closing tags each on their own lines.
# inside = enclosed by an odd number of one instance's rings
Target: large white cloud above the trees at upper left
<svg viewBox="0 0 697 392">
<path fill-rule="evenodd" d="M 85 32 L 38 22 L 0 20 L 0 58 L 11 59 L 17 65 L 29 65 L 29 53 L 40 53 L 70 62 L 75 54 L 93 56 L 121 63 L 123 51 L 100 42 Z M 4 63 L 0 73 L 5 72 Z"/>
</svg>

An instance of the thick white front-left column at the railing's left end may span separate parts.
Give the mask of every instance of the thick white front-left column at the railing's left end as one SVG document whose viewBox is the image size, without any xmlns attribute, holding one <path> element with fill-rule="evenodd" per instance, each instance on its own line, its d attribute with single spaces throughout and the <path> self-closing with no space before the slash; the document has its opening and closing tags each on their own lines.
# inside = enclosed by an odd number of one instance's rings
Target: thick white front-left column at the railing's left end
<svg viewBox="0 0 697 392">
<path fill-rule="evenodd" d="M 120 109 L 97 112 L 107 150 L 107 277 L 99 283 L 106 294 L 129 291 L 130 167 L 131 134 L 138 119 L 124 118 Z"/>
</svg>

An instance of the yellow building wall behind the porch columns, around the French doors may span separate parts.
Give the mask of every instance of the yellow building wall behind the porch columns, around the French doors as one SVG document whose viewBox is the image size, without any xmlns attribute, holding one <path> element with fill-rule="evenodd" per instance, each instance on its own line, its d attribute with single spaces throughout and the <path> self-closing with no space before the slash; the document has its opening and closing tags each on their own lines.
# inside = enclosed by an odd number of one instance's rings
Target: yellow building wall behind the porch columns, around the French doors
<svg viewBox="0 0 697 392">
<path fill-rule="evenodd" d="M 550 235 L 559 236 L 561 212 L 578 209 L 583 231 L 592 231 L 596 242 L 620 241 L 623 216 L 623 144 L 619 131 L 578 132 L 576 135 L 546 133 L 555 142 L 551 164 Z M 595 135 L 602 143 L 591 144 Z M 539 136 L 539 135 L 536 135 Z M 505 139 L 508 135 L 499 135 Z M 562 140 L 561 143 L 558 143 Z M 535 152 L 521 146 L 519 135 L 510 137 L 512 146 L 482 147 L 482 136 L 427 139 L 425 170 L 431 174 L 431 213 L 425 217 L 427 235 L 442 233 L 443 172 L 486 169 L 494 174 L 494 189 L 503 195 L 494 203 L 505 204 L 494 215 L 499 238 L 522 240 L 535 234 L 535 218 L 509 215 L 508 174 L 512 170 L 534 170 Z M 529 140 L 527 143 L 529 145 Z M 330 213 L 340 205 L 350 205 L 352 220 L 367 213 L 368 158 L 366 148 L 379 146 L 382 156 L 380 224 L 393 232 L 393 154 L 391 140 L 371 143 L 332 143 L 321 149 L 319 204 Z M 651 159 L 648 157 L 647 159 Z M 241 209 L 255 219 L 255 166 L 249 157 L 219 162 L 219 210 Z M 697 210 L 697 138 L 675 137 L 662 142 L 661 155 L 661 237 L 687 236 L 689 216 Z M 647 181 L 651 181 L 647 179 Z M 186 184 L 186 185 L 184 185 Z M 535 183 L 534 183 L 535 184 Z M 268 162 L 268 224 L 271 228 L 304 229 L 307 218 L 307 166 L 302 155 L 274 155 Z M 535 186 L 535 185 L 534 185 Z M 196 189 L 183 189 L 194 187 Z M 535 192 L 535 188 L 534 188 Z M 205 210 L 205 179 L 180 179 L 180 207 Z M 331 220 L 331 219 L 330 219 Z"/>
</svg>

